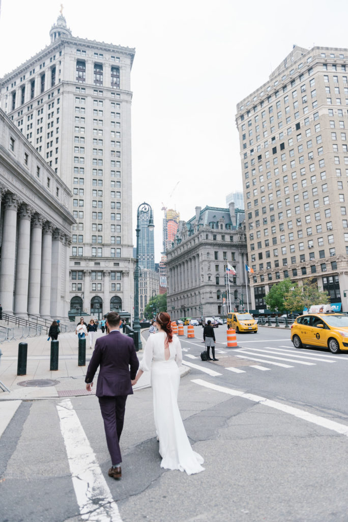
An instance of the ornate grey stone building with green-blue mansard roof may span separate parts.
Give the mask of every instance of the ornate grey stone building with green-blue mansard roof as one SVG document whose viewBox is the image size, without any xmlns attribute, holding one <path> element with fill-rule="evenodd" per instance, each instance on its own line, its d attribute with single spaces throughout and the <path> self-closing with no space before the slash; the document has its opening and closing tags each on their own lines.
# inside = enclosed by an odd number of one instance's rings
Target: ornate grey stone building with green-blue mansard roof
<svg viewBox="0 0 348 522">
<path fill-rule="evenodd" d="M 229 208 L 195 210 L 192 219 L 179 222 L 167 251 L 167 311 L 173 319 L 226 316 L 227 263 L 236 272 L 230 276 L 231 308 L 242 310 L 242 301 L 246 308 L 244 211 L 235 209 L 233 202 Z"/>
</svg>

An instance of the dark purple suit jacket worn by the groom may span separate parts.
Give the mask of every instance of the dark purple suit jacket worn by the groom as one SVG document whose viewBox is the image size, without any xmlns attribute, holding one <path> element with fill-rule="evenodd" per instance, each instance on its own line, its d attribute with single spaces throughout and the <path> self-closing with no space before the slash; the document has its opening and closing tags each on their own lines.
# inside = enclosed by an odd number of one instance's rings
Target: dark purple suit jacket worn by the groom
<svg viewBox="0 0 348 522">
<path fill-rule="evenodd" d="M 88 365 L 85 382 L 93 382 L 95 372 L 100 366 L 96 396 L 131 395 L 131 379 L 139 368 L 134 341 L 118 330 L 99 337 L 95 341 L 92 359 Z M 129 369 L 130 366 L 130 369 Z"/>
</svg>

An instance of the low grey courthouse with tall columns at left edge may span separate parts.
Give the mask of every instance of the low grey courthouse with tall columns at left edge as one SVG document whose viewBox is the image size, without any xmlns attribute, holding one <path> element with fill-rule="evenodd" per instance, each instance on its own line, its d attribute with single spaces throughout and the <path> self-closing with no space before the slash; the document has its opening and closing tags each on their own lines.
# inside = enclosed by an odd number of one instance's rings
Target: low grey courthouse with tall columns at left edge
<svg viewBox="0 0 348 522">
<path fill-rule="evenodd" d="M 0 109 L 0 303 L 67 319 L 71 192 Z"/>
</svg>

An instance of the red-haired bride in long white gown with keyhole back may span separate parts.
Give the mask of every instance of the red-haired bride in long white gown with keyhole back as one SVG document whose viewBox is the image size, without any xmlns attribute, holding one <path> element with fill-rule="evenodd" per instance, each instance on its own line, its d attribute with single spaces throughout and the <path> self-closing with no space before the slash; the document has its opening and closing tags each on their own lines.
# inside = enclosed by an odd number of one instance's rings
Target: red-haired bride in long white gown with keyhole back
<svg viewBox="0 0 348 522">
<path fill-rule="evenodd" d="M 191 448 L 178 407 L 181 345 L 172 334 L 170 315 L 161 312 L 156 317 L 157 334 L 148 337 L 144 357 L 132 384 L 151 370 L 156 432 L 159 440 L 161 468 L 179 469 L 188 475 L 204 471 L 203 458 Z"/>
</svg>

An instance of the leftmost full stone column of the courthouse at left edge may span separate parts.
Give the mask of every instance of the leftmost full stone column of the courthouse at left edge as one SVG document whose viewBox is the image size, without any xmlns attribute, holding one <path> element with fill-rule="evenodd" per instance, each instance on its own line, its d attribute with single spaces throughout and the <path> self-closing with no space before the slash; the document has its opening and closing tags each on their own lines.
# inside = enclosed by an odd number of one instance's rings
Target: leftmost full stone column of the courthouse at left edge
<svg viewBox="0 0 348 522">
<path fill-rule="evenodd" d="M 17 209 L 20 200 L 15 194 L 6 194 L 4 201 L 3 240 L 0 264 L 0 303 L 3 312 L 13 313 L 16 268 Z"/>
</svg>

